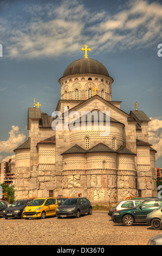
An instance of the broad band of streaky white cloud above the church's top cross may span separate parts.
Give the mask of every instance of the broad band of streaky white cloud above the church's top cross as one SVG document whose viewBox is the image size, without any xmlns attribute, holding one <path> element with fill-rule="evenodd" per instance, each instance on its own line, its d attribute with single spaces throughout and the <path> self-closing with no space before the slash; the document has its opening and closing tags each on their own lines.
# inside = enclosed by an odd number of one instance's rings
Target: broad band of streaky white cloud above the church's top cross
<svg viewBox="0 0 162 256">
<path fill-rule="evenodd" d="M 0 21 L 1 38 L 9 57 L 58 57 L 83 44 L 98 51 L 155 45 L 161 39 L 162 5 L 128 1 L 111 15 L 92 11 L 79 1 L 27 5 L 30 20 Z M 123 8 L 123 6 L 122 6 Z"/>
</svg>

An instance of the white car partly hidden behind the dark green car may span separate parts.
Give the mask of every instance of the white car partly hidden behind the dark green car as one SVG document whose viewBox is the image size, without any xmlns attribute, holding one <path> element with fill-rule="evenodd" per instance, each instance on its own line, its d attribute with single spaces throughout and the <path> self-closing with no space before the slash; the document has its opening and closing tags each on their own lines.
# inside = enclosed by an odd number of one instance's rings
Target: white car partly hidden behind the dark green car
<svg viewBox="0 0 162 256">
<path fill-rule="evenodd" d="M 142 202 L 142 200 L 125 200 L 125 201 L 121 201 L 119 204 L 117 204 L 115 207 L 113 207 L 112 209 L 109 210 L 108 215 L 112 216 L 115 211 L 133 208 L 136 205 L 140 204 L 141 202 Z"/>
</svg>

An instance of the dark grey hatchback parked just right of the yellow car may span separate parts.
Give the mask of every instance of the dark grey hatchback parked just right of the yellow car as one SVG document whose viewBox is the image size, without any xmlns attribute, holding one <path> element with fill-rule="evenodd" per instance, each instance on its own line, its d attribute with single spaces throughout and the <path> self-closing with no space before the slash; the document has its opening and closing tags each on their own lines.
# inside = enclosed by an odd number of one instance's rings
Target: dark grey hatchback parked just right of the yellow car
<svg viewBox="0 0 162 256">
<path fill-rule="evenodd" d="M 92 205 L 87 198 L 68 198 L 56 210 L 57 218 L 92 214 Z"/>
</svg>

